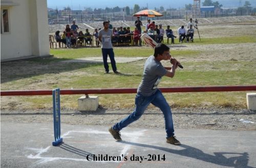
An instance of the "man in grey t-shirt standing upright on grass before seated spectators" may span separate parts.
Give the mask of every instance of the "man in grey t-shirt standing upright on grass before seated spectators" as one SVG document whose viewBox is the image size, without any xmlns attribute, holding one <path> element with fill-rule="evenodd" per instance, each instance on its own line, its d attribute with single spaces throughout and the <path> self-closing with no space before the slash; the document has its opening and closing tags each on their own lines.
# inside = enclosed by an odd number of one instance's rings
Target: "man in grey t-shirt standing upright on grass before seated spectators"
<svg viewBox="0 0 256 168">
<path fill-rule="evenodd" d="M 112 30 L 109 29 L 109 21 L 103 21 L 103 29 L 99 31 L 98 39 L 101 42 L 101 52 L 103 57 L 103 63 L 105 68 L 105 74 L 109 74 L 109 64 L 108 64 L 108 55 L 110 57 L 111 66 L 115 74 L 118 74 L 116 68 L 115 55 L 112 47 Z"/>
</svg>

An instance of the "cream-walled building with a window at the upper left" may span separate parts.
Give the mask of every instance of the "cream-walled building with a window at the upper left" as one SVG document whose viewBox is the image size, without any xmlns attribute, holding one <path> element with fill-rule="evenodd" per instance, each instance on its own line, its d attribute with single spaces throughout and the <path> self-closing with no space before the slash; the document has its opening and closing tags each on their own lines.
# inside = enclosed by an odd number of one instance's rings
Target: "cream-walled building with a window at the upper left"
<svg viewBox="0 0 256 168">
<path fill-rule="evenodd" d="M 1 61 L 49 56 L 47 0 L 1 0 Z"/>
</svg>

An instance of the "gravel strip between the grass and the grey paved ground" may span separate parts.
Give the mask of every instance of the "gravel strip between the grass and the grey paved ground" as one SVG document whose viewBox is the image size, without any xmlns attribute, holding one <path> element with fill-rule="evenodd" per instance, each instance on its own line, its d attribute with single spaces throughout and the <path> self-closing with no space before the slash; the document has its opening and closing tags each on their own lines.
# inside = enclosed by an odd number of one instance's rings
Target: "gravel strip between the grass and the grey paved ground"
<svg viewBox="0 0 256 168">
<path fill-rule="evenodd" d="M 109 127 L 129 115 L 133 109 L 104 109 L 96 112 L 80 112 L 72 109 L 61 110 L 61 123 L 72 125 L 100 125 Z M 256 111 L 232 108 L 174 108 L 172 110 L 175 128 L 214 130 L 256 130 Z M 240 119 L 254 123 L 242 123 Z M 1 111 L 2 122 L 49 123 L 52 124 L 51 109 L 39 111 Z M 150 107 L 139 121 L 131 127 L 164 128 L 161 111 Z"/>
</svg>

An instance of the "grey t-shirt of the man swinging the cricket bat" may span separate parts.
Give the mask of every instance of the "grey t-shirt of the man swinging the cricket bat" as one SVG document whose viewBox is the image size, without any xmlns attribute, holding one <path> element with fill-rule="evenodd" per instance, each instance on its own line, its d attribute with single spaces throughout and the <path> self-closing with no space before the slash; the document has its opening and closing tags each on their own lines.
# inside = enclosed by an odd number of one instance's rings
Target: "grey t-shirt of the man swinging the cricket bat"
<svg viewBox="0 0 256 168">
<path fill-rule="evenodd" d="M 142 81 L 137 92 L 148 97 L 157 91 L 157 85 L 160 83 L 162 76 L 167 73 L 161 62 L 157 61 L 154 56 L 147 58 L 144 64 Z"/>
</svg>

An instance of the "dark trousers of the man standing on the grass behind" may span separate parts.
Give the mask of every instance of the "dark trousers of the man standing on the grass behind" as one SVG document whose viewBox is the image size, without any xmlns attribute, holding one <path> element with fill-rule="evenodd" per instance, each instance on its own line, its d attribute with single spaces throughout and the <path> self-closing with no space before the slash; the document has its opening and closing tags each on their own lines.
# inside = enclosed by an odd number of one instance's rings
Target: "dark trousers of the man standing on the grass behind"
<svg viewBox="0 0 256 168">
<path fill-rule="evenodd" d="M 108 55 L 113 71 L 116 71 L 116 61 L 113 49 L 101 49 L 105 71 L 109 72 Z"/>
</svg>

